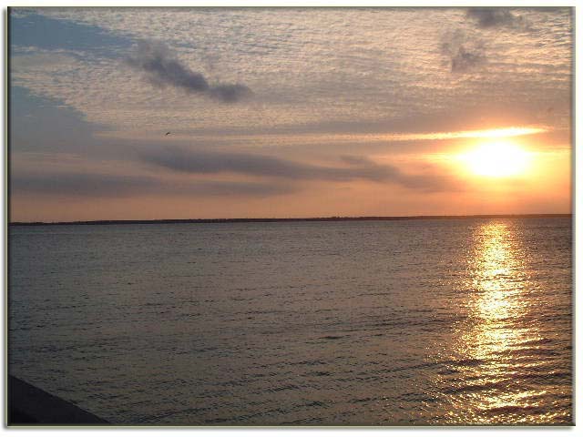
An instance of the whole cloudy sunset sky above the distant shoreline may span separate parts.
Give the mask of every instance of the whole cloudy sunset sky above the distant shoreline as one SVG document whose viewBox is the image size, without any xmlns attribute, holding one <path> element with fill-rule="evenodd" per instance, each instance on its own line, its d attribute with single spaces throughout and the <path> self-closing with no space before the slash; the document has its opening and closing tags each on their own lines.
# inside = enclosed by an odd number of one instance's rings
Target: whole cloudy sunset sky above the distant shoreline
<svg viewBox="0 0 583 437">
<path fill-rule="evenodd" d="M 570 8 L 12 8 L 10 220 L 571 212 Z"/>
</svg>

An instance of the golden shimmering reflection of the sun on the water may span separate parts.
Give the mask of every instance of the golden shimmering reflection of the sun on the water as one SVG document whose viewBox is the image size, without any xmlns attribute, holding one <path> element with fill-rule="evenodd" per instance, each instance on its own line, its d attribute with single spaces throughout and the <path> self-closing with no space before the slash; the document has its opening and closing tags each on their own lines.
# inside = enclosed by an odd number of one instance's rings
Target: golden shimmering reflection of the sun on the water
<svg viewBox="0 0 583 437">
<path fill-rule="evenodd" d="M 531 353 L 543 337 L 528 321 L 529 294 L 536 284 L 527 276 L 520 240 L 508 223 L 486 223 L 476 229 L 468 255 L 469 321 L 459 324 L 452 354 L 462 358 L 456 366 L 461 374 L 440 381 L 451 398 L 445 422 L 532 423 L 533 417 L 538 423 L 553 422 L 560 413 L 542 408 L 547 391 L 521 382 L 537 374 L 528 369 L 544 364 L 544 357 Z"/>
</svg>

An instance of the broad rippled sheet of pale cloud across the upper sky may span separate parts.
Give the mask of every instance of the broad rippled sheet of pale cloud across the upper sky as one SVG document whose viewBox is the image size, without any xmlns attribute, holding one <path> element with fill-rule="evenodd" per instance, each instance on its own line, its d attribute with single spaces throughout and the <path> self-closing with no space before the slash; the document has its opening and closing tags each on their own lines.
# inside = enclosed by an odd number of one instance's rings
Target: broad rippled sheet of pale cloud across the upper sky
<svg viewBox="0 0 583 437">
<path fill-rule="evenodd" d="M 211 129 L 219 135 L 237 131 L 261 136 L 273 129 L 293 134 L 310 126 L 325 127 L 329 132 L 364 132 L 371 124 L 396 132 L 412 128 L 428 131 L 449 127 L 424 126 L 427 117 L 453 123 L 442 114 L 455 107 L 461 116 L 452 118 L 462 124 L 468 119 L 466 114 L 494 102 L 508 112 L 510 107 L 528 108 L 524 112 L 530 123 L 538 122 L 534 107 L 560 100 L 567 103 L 556 106 L 556 118 L 568 119 L 573 22 L 568 8 L 511 11 L 528 17 L 539 32 L 485 39 L 487 71 L 476 63 L 475 70 L 467 70 L 480 72 L 479 83 L 460 80 L 445 84 L 443 73 L 450 72 L 452 56 L 442 56 L 436 47 L 440 41 L 435 35 L 439 38 L 449 25 L 461 25 L 468 35 L 492 36 L 492 30 L 476 28 L 465 16 L 466 8 L 439 8 L 432 14 L 424 9 L 390 8 L 261 9 L 252 14 L 234 9 L 210 14 L 196 8 L 44 8 L 33 27 L 26 27 L 24 19 L 11 22 L 30 32 L 31 28 L 42 28 L 42 17 L 48 15 L 63 25 L 82 24 L 79 29 L 99 26 L 124 41 L 131 39 L 132 45 L 138 40 L 164 41 L 174 51 L 172 57 L 204 76 L 208 85 L 240 82 L 250 86 L 255 94 L 249 110 L 241 110 L 240 105 L 219 105 L 219 97 L 189 94 L 182 87 L 167 85 L 169 92 L 152 92 L 154 88 L 143 80 L 149 76 L 147 72 L 120 67 L 120 59 L 135 55 L 128 51 L 131 46 L 107 45 L 115 58 L 105 56 L 97 51 L 101 46 L 98 38 L 89 38 L 96 48 L 87 50 L 87 56 L 72 56 L 66 64 L 12 68 L 15 63 L 11 62 L 11 78 L 13 84 L 26 86 L 36 96 L 74 107 L 88 122 L 120 137 L 132 132 L 155 137 L 163 129 L 189 131 L 193 136 Z M 378 23 L 363 27 L 369 18 Z M 298 23 L 302 25 L 298 27 Z M 332 33 L 331 23 L 336 24 Z M 195 28 L 199 31 L 193 32 Z M 366 33 L 362 44 L 355 44 L 355 32 Z M 11 44 L 14 48 L 20 41 L 11 38 Z M 63 41 L 60 48 L 67 47 Z M 467 42 L 464 49 L 462 59 L 467 53 L 476 53 Z M 213 69 L 206 64 L 209 58 Z M 460 64 L 468 63 L 456 61 L 454 68 Z M 256 85 L 268 83 L 269 90 Z M 215 93 L 220 95 L 221 88 Z M 490 110 L 489 114 L 493 113 Z M 526 122 L 514 113 L 510 117 L 515 118 L 513 123 Z M 265 142 L 270 141 L 265 136 Z"/>
</svg>

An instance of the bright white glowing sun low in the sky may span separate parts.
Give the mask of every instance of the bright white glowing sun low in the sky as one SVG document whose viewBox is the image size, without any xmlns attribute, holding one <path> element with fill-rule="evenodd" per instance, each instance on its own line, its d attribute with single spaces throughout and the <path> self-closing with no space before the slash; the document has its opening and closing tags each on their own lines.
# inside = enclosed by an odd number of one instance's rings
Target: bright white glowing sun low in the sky
<svg viewBox="0 0 583 437">
<path fill-rule="evenodd" d="M 481 144 L 458 155 L 458 158 L 471 173 L 488 178 L 507 178 L 524 174 L 531 161 L 527 150 L 504 140 Z"/>
</svg>

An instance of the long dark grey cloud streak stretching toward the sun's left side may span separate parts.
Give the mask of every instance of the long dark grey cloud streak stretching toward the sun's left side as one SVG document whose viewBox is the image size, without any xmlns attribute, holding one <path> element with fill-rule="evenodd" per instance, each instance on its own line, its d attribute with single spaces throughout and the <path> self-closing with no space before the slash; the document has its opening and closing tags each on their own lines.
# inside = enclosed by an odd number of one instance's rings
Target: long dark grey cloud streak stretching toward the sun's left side
<svg viewBox="0 0 583 437">
<path fill-rule="evenodd" d="M 192 152 L 179 147 L 142 152 L 145 162 L 159 167 L 191 174 L 240 173 L 255 177 L 287 178 L 292 180 L 393 182 L 407 188 L 436 191 L 454 189 L 449 178 L 435 174 L 408 175 L 399 168 L 377 164 L 363 157 L 344 156 L 346 167 L 329 167 L 301 163 L 265 155 L 242 153 Z"/>
</svg>

